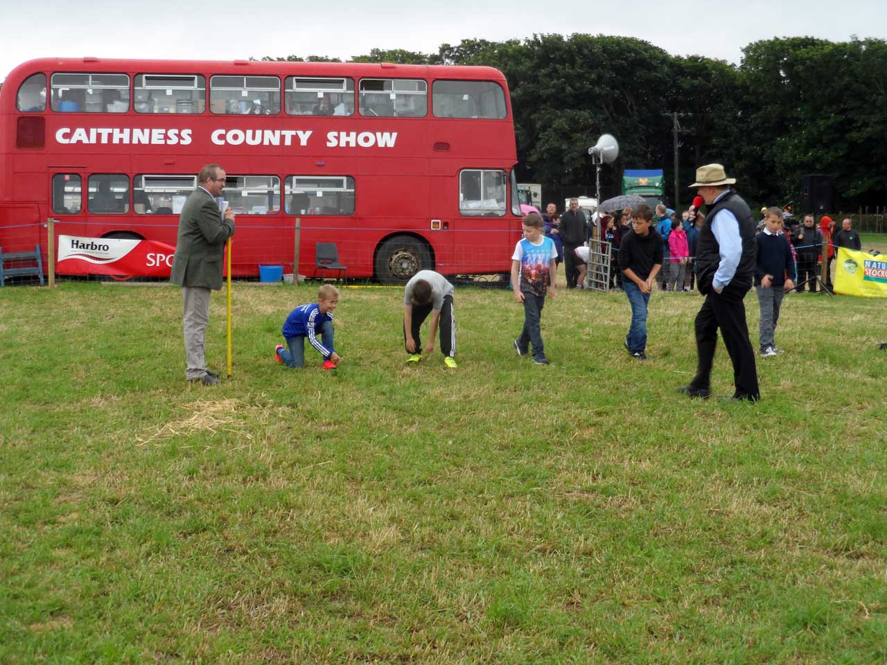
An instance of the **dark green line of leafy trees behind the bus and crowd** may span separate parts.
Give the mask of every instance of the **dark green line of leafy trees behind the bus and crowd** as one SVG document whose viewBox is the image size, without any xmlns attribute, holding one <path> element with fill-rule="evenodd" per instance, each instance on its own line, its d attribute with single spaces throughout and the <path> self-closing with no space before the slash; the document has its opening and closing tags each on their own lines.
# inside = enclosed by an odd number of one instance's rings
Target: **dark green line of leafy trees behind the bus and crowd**
<svg viewBox="0 0 887 665">
<path fill-rule="evenodd" d="M 518 179 L 542 184 L 546 200 L 593 195 L 587 150 L 603 133 L 620 146 L 618 160 L 601 169 L 603 197 L 618 193 L 624 168 L 663 168 L 673 199 L 673 113 L 683 206 L 695 168 L 712 161 L 755 204 L 794 201 L 799 210 L 806 174 L 833 176 L 844 210 L 887 200 L 884 40 L 773 38 L 742 49 L 739 65 L 581 34 L 469 39 L 436 53 L 373 49 L 350 61 L 499 69 L 511 91 Z"/>
</svg>

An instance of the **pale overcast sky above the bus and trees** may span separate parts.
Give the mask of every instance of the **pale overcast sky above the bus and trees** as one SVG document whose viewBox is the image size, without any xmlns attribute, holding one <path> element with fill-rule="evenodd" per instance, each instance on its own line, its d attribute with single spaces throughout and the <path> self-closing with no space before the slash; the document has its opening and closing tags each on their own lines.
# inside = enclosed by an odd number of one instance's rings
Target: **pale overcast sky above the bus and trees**
<svg viewBox="0 0 887 665">
<path fill-rule="evenodd" d="M 428 53 L 463 39 L 589 33 L 738 63 L 743 46 L 773 36 L 887 37 L 887 0 L 0 0 L 0 17 L 0 81 L 56 56 L 348 59 L 374 47 Z"/>
</svg>

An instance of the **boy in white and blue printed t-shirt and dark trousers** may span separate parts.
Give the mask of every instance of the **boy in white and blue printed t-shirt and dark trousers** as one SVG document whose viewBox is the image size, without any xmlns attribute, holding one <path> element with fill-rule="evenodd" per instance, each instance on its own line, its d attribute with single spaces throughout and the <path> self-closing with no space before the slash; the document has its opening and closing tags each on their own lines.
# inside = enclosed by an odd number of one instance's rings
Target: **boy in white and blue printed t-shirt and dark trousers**
<svg viewBox="0 0 887 665">
<path fill-rule="evenodd" d="M 518 356 L 526 356 L 533 346 L 533 362 L 548 364 L 539 320 L 546 304 L 548 285 L 554 297 L 554 280 L 557 274 L 557 249 L 553 240 L 542 235 L 542 217 L 530 213 L 523 218 L 523 239 L 514 246 L 511 257 L 511 284 L 514 300 L 523 303 L 523 329 L 514 340 Z"/>
</svg>

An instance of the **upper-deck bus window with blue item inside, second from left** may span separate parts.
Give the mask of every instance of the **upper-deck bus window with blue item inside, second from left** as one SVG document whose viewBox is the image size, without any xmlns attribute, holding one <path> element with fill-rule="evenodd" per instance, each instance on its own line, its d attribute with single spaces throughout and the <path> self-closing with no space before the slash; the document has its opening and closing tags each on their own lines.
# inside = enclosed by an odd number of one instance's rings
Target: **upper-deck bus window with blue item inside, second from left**
<svg viewBox="0 0 887 665">
<path fill-rule="evenodd" d="M 52 74 L 53 111 L 126 113 L 130 109 L 130 77 L 126 74 Z"/>
</svg>

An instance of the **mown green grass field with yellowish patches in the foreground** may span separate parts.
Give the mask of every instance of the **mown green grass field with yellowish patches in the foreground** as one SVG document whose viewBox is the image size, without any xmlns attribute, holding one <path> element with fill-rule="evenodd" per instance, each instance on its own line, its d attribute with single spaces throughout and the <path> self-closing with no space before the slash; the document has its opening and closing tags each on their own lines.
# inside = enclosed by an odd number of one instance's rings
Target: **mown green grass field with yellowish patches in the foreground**
<svg viewBox="0 0 887 665">
<path fill-rule="evenodd" d="M 510 292 L 458 289 L 452 372 L 348 288 L 340 369 L 287 370 L 315 290 L 235 285 L 216 388 L 175 288 L 0 292 L 0 662 L 887 661 L 884 301 L 789 296 L 724 404 L 675 392 L 696 295 L 654 294 L 642 364 L 624 296 L 561 293 L 542 367 Z"/>
</svg>

